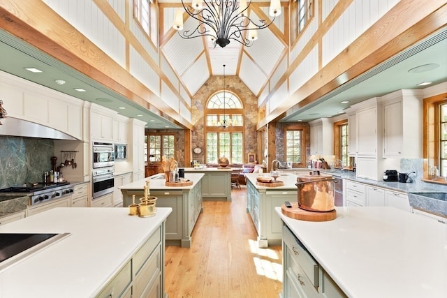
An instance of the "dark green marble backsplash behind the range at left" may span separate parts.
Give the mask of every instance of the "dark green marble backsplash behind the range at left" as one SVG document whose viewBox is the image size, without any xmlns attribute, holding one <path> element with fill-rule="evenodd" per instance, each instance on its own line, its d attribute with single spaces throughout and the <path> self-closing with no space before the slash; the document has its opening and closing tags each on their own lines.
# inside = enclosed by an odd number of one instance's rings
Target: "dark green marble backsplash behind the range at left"
<svg viewBox="0 0 447 298">
<path fill-rule="evenodd" d="M 51 170 L 54 142 L 48 139 L 0 136 L 0 188 L 40 182 Z"/>
</svg>

